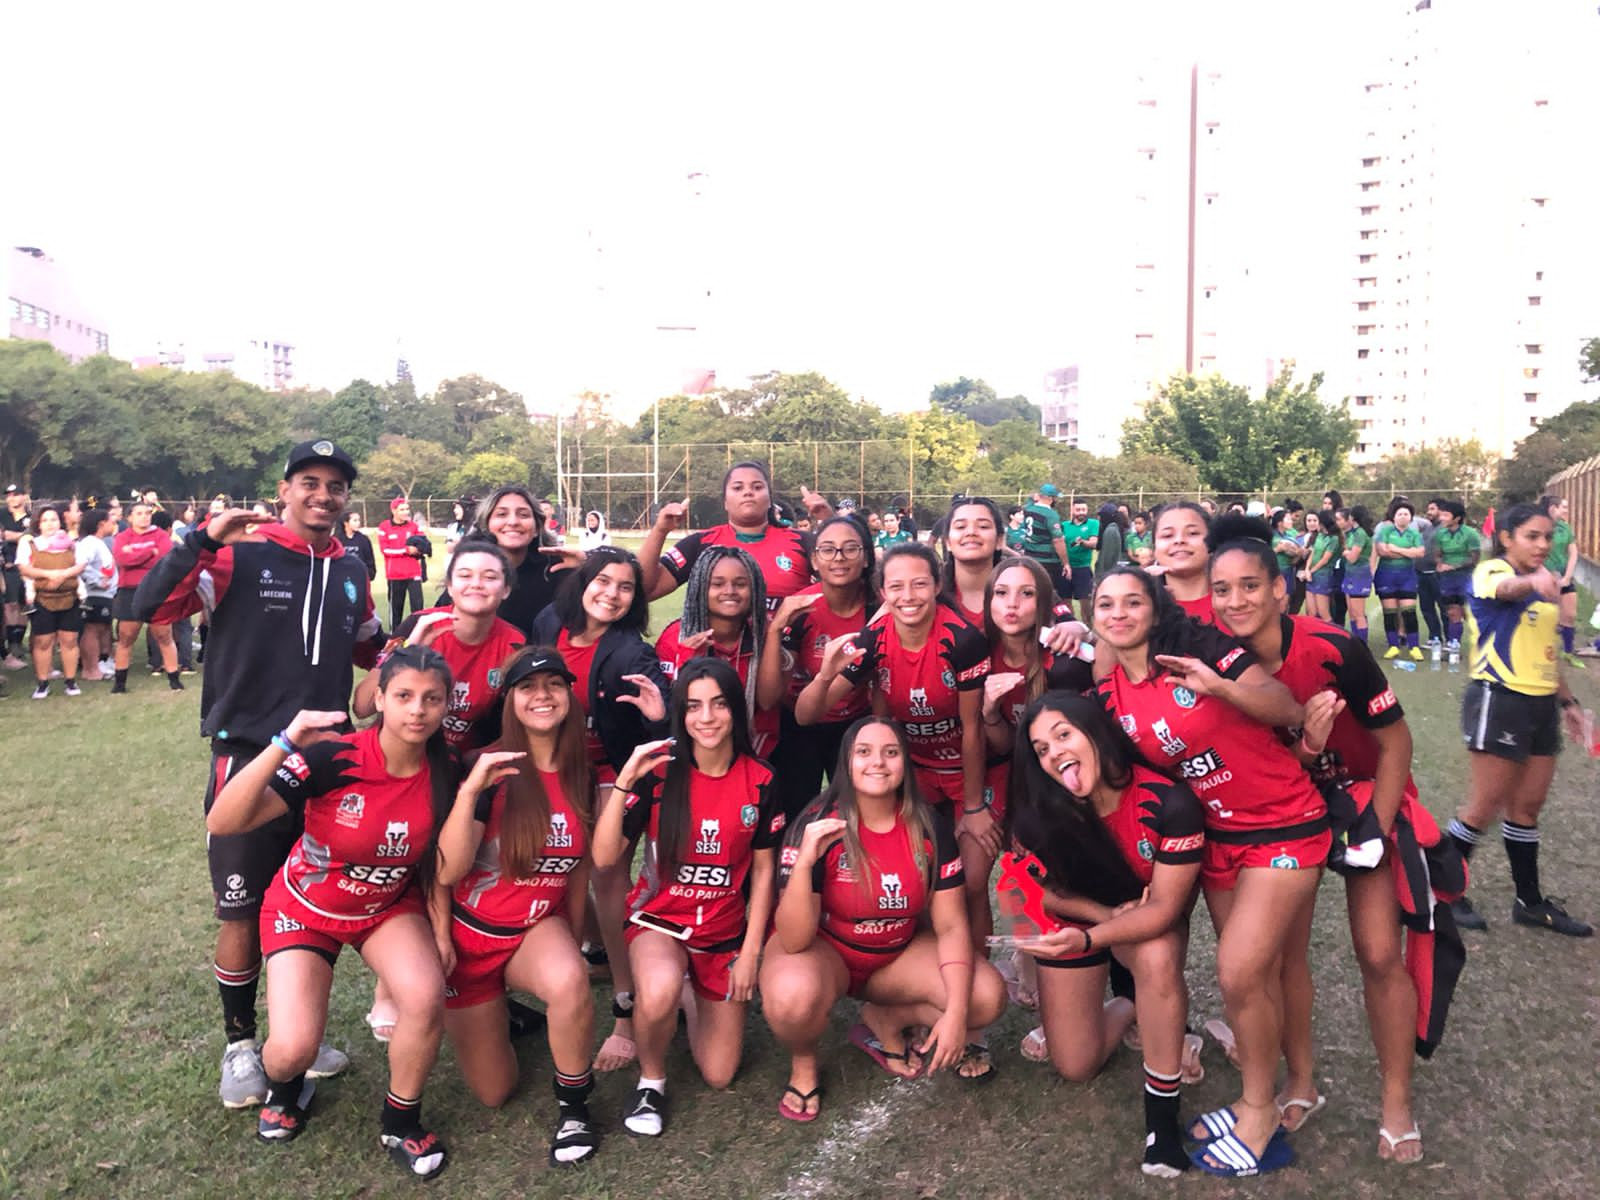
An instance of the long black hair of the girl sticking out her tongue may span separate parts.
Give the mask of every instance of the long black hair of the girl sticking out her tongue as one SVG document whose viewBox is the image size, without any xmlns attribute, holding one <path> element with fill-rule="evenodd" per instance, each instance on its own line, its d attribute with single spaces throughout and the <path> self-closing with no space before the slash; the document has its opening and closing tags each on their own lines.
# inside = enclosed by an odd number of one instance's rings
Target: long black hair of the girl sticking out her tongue
<svg viewBox="0 0 1600 1200">
<path fill-rule="evenodd" d="M 1038 858 L 1053 891 L 1077 893 L 1109 906 L 1138 899 L 1142 885 L 1094 811 L 1093 795 L 1072 795 L 1034 754 L 1029 730 L 1042 712 L 1059 714 L 1094 744 L 1101 778 L 1112 787 L 1133 782 L 1139 760 L 1133 742 L 1098 701 L 1070 691 L 1046 691 L 1022 710 L 1016 726 L 1006 837 Z"/>
</svg>

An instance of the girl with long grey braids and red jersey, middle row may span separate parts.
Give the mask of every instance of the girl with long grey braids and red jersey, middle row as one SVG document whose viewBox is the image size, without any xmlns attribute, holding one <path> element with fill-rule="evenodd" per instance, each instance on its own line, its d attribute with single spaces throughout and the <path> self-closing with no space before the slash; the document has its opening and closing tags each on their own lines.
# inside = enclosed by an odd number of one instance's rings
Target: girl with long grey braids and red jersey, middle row
<svg viewBox="0 0 1600 1200">
<path fill-rule="evenodd" d="M 778 709 L 755 699 L 766 640 L 766 581 L 760 563 L 738 546 L 707 546 L 690 568 L 683 616 L 661 630 L 661 674 L 677 680 L 691 658 L 720 658 L 739 674 L 750 741 L 758 758 L 778 742 Z"/>
</svg>

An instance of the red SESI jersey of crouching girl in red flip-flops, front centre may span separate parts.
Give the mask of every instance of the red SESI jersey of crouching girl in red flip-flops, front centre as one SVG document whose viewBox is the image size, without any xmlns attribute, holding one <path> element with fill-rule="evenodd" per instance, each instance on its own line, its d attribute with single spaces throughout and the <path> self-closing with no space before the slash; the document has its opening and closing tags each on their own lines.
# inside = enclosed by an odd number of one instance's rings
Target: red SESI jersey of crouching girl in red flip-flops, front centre
<svg viewBox="0 0 1600 1200">
<path fill-rule="evenodd" d="M 861 853 L 866 862 L 850 862 L 845 842 L 830 845 L 811 867 L 811 890 L 822 898 L 818 930 L 845 946 L 862 950 L 888 952 L 906 946 L 917 933 L 917 922 L 933 901 L 933 891 L 960 888 L 966 883 L 962 869 L 962 851 L 955 845 L 955 826 L 949 813 L 933 808 L 933 840 L 922 840 L 922 856 L 931 862 L 933 886 L 930 890 L 925 869 L 917 862 L 912 834 L 901 816 L 894 827 L 875 834 L 861 826 Z M 805 826 L 827 816 L 837 816 L 822 805 L 808 808 L 802 816 L 798 834 Z M 779 859 L 779 893 L 800 856 L 800 837 L 794 835 Z"/>
</svg>

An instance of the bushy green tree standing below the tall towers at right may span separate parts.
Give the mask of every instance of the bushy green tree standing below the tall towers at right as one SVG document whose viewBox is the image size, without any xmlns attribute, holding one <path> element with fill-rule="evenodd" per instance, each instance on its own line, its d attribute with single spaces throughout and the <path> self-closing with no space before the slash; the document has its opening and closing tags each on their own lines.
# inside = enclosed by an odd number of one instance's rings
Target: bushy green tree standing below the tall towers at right
<svg viewBox="0 0 1600 1200">
<path fill-rule="evenodd" d="M 1123 424 L 1123 450 L 1189 462 L 1203 486 L 1224 493 L 1272 483 L 1286 461 L 1333 478 L 1355 446 L 1355 422 L 1342 406 L 1323 403 L 1320 386 L 1320 373 L 1294 382 L 1290 365 L 1253 400 L 1218 374 L 1174 374 L 1142 418 Z"/>
</svg>

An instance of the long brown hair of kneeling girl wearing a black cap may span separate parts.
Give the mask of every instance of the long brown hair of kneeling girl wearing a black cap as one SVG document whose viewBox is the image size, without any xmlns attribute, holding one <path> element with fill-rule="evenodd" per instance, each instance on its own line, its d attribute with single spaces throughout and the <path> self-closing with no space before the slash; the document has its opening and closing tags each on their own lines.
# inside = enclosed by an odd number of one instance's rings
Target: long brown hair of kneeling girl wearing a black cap
<svg viewBox="0 0 1600 1200">
<path fill-rule="evenodd" d="M 531 658 L 560 661 L 554 646 L 518 646 L 501 666 L 501 677 L 509 678 L 518 661 Z M 589 835 L 595 824 L 590 803 L 595 784 L 584 733 L 584 712 L 573 696 L 571 685 L 562 675 L 552 674 L 550 678 L 566 688 L 568 696 L 566 718 L 555 734 L 555 774 L 562 781 L 568 806 Z M 544 790 L 544 779 L 533 766 L 533 741 L 517 720 L 514 693 L 515 688 L 506 690 L 506 702 L 501 706 L 501 736 L 488 749 L 528 755 L 520 762 L 517 774 L 507 776 L 501 784 L 506 789 L 506 806 L 501 810 L 499 856 L 506 878 L 533 878 L 544 840 L 550 832 L 550 797 Z"/>
</svg>

